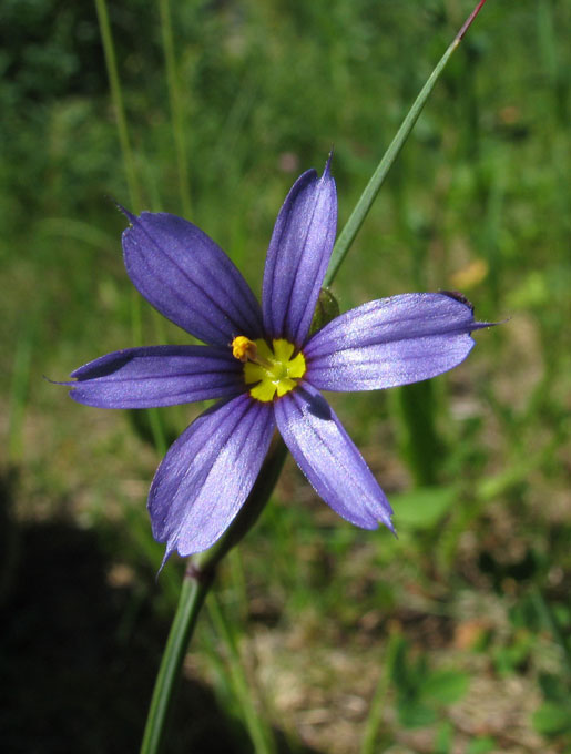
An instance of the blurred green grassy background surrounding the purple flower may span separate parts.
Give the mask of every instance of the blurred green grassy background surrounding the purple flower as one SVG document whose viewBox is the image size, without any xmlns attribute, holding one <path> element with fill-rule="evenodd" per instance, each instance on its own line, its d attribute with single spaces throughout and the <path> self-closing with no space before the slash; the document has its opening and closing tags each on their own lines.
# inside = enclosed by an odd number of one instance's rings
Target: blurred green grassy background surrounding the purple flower
<svg viewBox="0 0 571 754">
<path fill-rule="evenodd" d="M 185 340 L 137 303 L 110 197 L 185 214 L 259 291 L 297 174 L 334 145 L 343 224 L 471 2 L 188 1 L 172 35 L 164 0 L 113 3 L 131 184 L 95 6 L 2 8 L 0 741 L 136 751 L 180 581 L 175 559 L 154 580 L 160 451 L 145 415 L 42 379 L 133 345 L 133 310 L 144 343 Z M 571 751 L 570 27 L 565 0 L 487 3 L 335 283 L 343 309 L 458 288 L 508 319 L 450 375 L 333 398 L 399 539 L 288 463 L 221 572 L 169 751 Z"/>
</svg>

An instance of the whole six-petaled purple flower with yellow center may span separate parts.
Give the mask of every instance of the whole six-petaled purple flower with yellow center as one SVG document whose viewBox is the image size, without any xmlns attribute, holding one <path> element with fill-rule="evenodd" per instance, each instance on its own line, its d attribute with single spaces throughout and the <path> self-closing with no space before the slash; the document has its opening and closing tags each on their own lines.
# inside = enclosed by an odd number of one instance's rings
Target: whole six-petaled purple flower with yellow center
<svg viewBox="0 0 571 754">
<path fill-rule="evenodd" d="M 71 397 L 100 408 L 221 399 L 171 446 L 149 495 L 165 559 L 213 544 L 245 502 L 275 428 L 317 493 L 364 529 L 392 530 L 392 509 L 320 390 L 371 390 L 460 364 L 486 324 L 443 293 L 405 294 L 341 314 L 310 334 L 337 223 L 327 164 L 294 184 L 266 257 L 262 306 L 226 254 L 192 223 L 126 213 L 125 267 L 139 292 L 206 345 L 119 350 L 71 376 Z"/>
</svg>

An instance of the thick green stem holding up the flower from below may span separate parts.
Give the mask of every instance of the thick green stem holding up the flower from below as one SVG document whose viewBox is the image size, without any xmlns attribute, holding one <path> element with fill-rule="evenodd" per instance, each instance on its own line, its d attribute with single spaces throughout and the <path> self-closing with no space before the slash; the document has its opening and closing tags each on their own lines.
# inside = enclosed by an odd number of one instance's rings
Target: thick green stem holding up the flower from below
<svg viewBox="0 0 571 754">
<path fill-rule="evenodd" d="M 279 477 L 286 455 L 287 448 L 284 441 L 276 437 L 248 499 L 230 529 L 210 550 L 188 562 L 179 607 L 155 681 L 141 754 L 159 754 L 164 744 L 169 713 L 174 701 L 184 655 L 204 598 L 214 581 L 216 568 L 224 556 L 257 521 Z"/>
</svg>

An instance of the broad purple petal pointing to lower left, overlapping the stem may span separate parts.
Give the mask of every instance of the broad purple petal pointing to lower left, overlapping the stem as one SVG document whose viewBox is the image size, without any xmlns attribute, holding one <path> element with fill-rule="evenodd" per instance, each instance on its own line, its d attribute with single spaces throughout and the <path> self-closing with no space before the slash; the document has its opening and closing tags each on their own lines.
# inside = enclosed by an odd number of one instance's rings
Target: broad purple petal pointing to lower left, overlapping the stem
<svg viewBox="0 0 571 754">
<path fill-rule="evenodd" d="M 200 416 L 171 446 L 151 486 L 153 536 L 165 560 L 206 550 L 228 528 L 274 431 L 272 404 L 237 396 Z"/>
</svg>

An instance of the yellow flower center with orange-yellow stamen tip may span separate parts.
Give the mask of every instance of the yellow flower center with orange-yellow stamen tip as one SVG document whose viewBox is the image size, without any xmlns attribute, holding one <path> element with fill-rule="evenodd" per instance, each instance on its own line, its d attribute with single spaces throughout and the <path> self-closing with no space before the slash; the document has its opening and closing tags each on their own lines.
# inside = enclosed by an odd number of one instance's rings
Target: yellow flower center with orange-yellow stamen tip
<svg viewBox="0 0 571 754">
<path fill-rule="evenodd" d="M 268 403 L 281 398 L 297 385 L 305 375 L 304 355 L 299 351 L 292 358 L 295 346 L 279 338 L 272 342 L 273 350 L 265 340 L 249 340 L 238 335 L 232 342 L 232 355 L 244 361 L 244 379 L 246 385 L 254 385 L 249 395 L 256 400 Z"/>
</svg>

